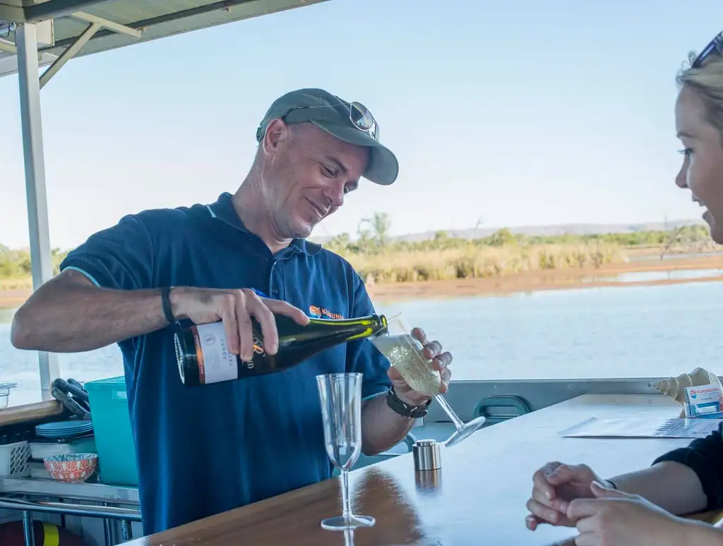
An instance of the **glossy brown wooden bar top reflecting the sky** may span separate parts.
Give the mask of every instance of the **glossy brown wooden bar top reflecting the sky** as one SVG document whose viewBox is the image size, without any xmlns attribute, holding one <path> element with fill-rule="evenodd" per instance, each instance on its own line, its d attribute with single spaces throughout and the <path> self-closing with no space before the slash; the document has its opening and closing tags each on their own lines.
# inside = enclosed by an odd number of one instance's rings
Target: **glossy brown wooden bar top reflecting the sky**
<svg viewBox="0 0 723 546">
<path fill-rule="evenodd" d="M 552 546 L 576 531 L 526 529 L 532 474 L 542 464 L 585 463 L 609 477 L 649 466 L 656 456 L 690 443 L 560 438 L 559 432 L 589 417 L 666 419 L 679 413 L 680 406 L 662 395 L 585 395 L 479 430 L 458 446 L 442 446 L 438 471 L 415 472 L 411 454 L 356 470 L 349 480 L 352 511 L 374 516 L 371 528 L 345 533 L 320 527 L 322 519 L 341 514 L 333 478 L 125 545 Z"/>
</svg>

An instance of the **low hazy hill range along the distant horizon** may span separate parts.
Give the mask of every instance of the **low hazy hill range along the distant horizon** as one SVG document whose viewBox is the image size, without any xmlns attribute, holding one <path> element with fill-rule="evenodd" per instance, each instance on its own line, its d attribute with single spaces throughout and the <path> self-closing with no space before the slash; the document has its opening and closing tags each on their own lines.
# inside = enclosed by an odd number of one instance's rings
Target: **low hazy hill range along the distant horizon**
<svg viewBox="0 0 723 546">
<path fill-rule="evenodd" d="M 636 233 L 640 231 L 666 231 L 680 228 L 683 225 L 703 225 L 706 222 L 702 219 L 696 220 L 672 220 L 669 222 L 643 222 L 641 224 L 560 224 L 560 225 L 527 225 L 518 226 L 516 228 L 508 227 L 506 229 L 515 235 L 527 235 L 529 237 L 544 237 L 544 236 L 555 236 L 555 235 L 597 235 L 604 233 Z M 436 231 L 424 231 L 422 233 L 408 233 L 406 235 L 393 235 L 390 238 L 393 241 L 427 241 L 435 238 L 437 231 L 446 231 L 450 237 L 453 238 L 482 238 L 489 237 L 493 233 L 505 229 L 505 227 L 499 228 L 483 228 L 479 227 L 476 230 L 472 228 L 465 230 L 436 230 Z M 310 237 L 309 241 L 315 243 L 326 243 L 333 236 L 325 235 L 319 237 Z M 354 236 L 352 236 L 354 238 Z"/>
</svg>

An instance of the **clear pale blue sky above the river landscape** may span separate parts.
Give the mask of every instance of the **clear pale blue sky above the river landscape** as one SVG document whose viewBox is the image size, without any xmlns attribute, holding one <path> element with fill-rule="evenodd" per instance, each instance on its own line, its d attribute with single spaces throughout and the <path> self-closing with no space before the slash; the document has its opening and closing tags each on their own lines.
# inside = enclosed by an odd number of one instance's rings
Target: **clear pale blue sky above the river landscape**
<svg viewBox="0 0 723 546">
<path fill-rule="evenodd" d="M 315 235 L 375 210 L 395 233 L 696 218 L 674 185 L 674 78 L 721 28 L 714 0 L 331 0 L 77 58 L 42 91 L 51 244 L 234 191 L 268 105 L 297 87 L 367 105 L 401 162 Z M 12 247 L 27 245 L 19 110 L 17 77 L 0 79 Z"/>
</svg>

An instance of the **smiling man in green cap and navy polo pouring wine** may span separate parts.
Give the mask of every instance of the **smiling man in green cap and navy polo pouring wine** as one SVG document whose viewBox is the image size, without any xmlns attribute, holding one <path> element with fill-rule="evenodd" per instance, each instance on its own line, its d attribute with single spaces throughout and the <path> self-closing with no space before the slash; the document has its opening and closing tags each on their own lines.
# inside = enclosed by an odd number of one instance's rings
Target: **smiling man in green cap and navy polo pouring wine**
<svg viewBox="0 0 723 546">
<path fill-rule="evenodd" d="M 24 349 L 78 352 L 119 343 L 145 534 L 330 477 L 319 373 L 364 374 L 365 454 L 401 441 L 430 402 L 364 340 L 281 373 L 196 389 L 181 384 L 174 321 L 223 320 L 231 351 L 246 359 L 251 316 L 273 354 L 272 312 L 299 324 L 311 309 L 322 316 L 374 312 L 351 265 L 305 241 L 362 175 L 395 181 L 397 160 L 380 144 L 374 118 L 324 90 L 296 90 L 271 105 L 257 140 L 234 195 L 129 215 L 91 235 L 13 321 L 12 343 Z M 450 354 L 421 330 L 415 335 L 446 391 Z"/>
</svg>

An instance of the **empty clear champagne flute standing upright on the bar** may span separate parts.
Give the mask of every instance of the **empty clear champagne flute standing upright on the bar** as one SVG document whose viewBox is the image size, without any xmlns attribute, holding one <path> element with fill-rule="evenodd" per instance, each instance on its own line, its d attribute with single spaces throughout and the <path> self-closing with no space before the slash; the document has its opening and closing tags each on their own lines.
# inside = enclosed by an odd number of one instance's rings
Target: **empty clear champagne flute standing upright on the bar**
<svg viewBox="0 0 723 546">
<path fill-rule="evenodd" d="M 372 516 L 351 514 L 349 501 L 348 472 L 361 453 L 361 377 L 361 373 L 317 376 L 326 453 L 341 472 L 341 516 L 321 521 L 321 527 L 331 531 L 372 527 L 375 524 Z"/>
</svg>

